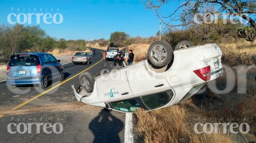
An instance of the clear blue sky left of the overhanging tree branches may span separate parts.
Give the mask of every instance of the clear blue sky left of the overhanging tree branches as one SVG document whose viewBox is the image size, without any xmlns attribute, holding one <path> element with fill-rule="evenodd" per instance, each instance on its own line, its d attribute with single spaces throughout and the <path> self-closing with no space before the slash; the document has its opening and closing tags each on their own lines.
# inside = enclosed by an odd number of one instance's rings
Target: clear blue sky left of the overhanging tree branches
<svg viewBox="0 0 256 143">
<path fill-rule="evenodd" d="M 19 8 L 19 11 L 18 11 Z M 168 13 L 168 9 L 166 11 Z M 114 31 L 124 31 L 134 36 L 155 36 L 159 31 L 159 19 L 153 10 L 145 9 L 142 0 L 73 0 L 73 1 L 3 1 L 0 0 L 0 24 L 10 24 L 7 20 L 11 14 L 11 21 L 17 22 L 17 17 L 12 13 L 20 14 L 20 21 L 24 25 L 38 25 L 35 15 L 31 16 L 31 24 L 28 23 L 27 14 L 46 14 L 52 16 L 59 13 L 63 16 L 63 22 L 55 24 L 52 17 L 46 24 L 41 16 L 40 27 L 49 36 L 64 39 L 90 40 L 105 38 Z M 27 20 L 24 21 L 24 15 Z M 46 15 L 48 17 L 49 15 Z M 56 22 L 59 22 L 59 15 Z"/>
</svg>

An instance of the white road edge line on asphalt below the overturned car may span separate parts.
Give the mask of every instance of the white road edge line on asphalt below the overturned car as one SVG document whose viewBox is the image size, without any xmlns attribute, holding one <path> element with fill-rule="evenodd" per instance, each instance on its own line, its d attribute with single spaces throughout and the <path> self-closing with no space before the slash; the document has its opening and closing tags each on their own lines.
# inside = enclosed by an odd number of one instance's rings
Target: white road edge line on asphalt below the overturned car
<svg viewBox="0 0 256 143">
<path fill-rule="evenodd" d="M 125 113 L 125 143 L 133 143 L 134 138 L 132 135 L 132 113 Z"/>
</svg>

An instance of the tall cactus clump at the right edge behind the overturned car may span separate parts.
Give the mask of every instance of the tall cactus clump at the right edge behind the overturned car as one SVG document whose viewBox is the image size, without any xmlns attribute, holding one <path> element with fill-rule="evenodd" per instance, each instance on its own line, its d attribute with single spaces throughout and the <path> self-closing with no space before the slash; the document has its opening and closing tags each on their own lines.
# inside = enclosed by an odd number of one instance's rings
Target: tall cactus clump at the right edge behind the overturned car
<svg viewBox="0 0 256 143">
<path fill-rule="evenodd" d="M 244 38 L 249 42 L 253 42 L 256 38 L 256 28 L 250 26 L 239 27 L 237 35 L 239 38 Z"/>
</svg>

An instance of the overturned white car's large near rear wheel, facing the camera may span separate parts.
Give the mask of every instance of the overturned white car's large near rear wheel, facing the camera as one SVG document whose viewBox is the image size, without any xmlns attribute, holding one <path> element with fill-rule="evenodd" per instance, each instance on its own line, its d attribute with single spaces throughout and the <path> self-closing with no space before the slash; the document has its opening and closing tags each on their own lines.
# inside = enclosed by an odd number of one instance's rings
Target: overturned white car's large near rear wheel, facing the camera
<svg viewBox="0 0 256 143">
<path fill-rule="evenodd" d="M 148 48 L 148 60 L 157 67 L 163 67 L 172 60 L 172 46 L 164 41 L 156 41 Z"/>
</svg>

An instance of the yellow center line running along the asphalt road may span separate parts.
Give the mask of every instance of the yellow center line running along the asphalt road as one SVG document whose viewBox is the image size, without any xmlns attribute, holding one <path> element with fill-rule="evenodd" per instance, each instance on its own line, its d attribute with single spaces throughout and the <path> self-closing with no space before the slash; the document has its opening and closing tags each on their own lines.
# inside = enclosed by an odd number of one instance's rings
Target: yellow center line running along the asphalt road
<svg viewBox="0 0 256 143">
<path fill-rule="evenodd" d="M 99 51 L 100 51 L 100 50 L 99 50 Z M 100 51 L 100 52 L 102 52 L 102 51 Z M 102 54 L 103 54 L 103 52 L 102 52 Z M 102 58 L 99 62 L 97 62 L 96 64 L 99 64 L 100 62 L 102 62 L 102 60 L 104 59 L 104 56 L 105 56 L 105 55 L 103 54 L 103 58 Z M 35 100 L 36 98 L 38 98 L 38 97 L 40 97 L 40 96 L 42 96 L 42 95 L 44 95 L 45 93 L 48 93 L 49 91 L 55 89 L 56 87 L 61 86 L 62 84 L 66 83 L 67 81 L 70 81 L 71 79 L 74 79 L 76 76 L 79 76 L 81 73 L 84 73 L 85 71 L 89 70 L 91 67 L 95 66 L 96 64 L 93 64 L 92 66 L 90 66 L 90 67 L 88 67 L 87 69 L 81 71 L 80 73 L 76 74 L 75 76 L 72 76 L 72 77 L 70 77 L 69 79 L 66 79 L 66 80 L 62 81 L 61 83 L 55 85 L 54 87 L 50 88 L 49 90 L 46 90 L 46 91 L 44 91 L 43 93 L 40 93 L 40 94 L 34 96 L 33 98 L 30 98 L 29 100 L 23 102 L 22 104 L 17 105 L 16 107 L 12 108 L 12 110 L 15 110 L 15 109 L 18 109 L 18 108 L 20 108 L 20 107 L 23 107 L 24 105 L 28 104 L 29 102 Z M 0 115 L 0 118 L 3 117 L 3 116 L 4 116 L 4 115 Z"/>
</svg>

